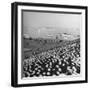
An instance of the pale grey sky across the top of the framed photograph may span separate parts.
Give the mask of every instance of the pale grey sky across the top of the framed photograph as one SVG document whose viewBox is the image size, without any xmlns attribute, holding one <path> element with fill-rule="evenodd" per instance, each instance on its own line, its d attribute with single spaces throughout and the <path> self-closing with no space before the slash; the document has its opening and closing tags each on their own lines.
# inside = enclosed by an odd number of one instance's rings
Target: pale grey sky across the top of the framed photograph
<svg viewBox="0 0 90 90">
<path fill-rule="evenodd" d="M 23 34 L 46 37 L 58 33 L 80 34 L 81 14 L 23 11 Z"/>
</svg>

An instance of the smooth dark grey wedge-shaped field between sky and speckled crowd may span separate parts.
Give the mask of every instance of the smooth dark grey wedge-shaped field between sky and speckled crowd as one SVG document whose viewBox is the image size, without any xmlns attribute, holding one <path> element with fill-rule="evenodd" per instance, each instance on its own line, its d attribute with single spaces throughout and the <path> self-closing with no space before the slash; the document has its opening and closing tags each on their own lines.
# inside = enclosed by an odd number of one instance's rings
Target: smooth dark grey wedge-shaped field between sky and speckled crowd
<svg viewBox="0 0 90 90">
<path fill-rule="evenodd" d="M 73 41 L 67 40 L 50 40 L 50 39 L 23 39 L 23 51 L 24 58 L 30 57 L 30 55 L 38 54 L 56 47 L 62 47 L 64 45 L 68 45 L 73 43 Z"/>
</svg>

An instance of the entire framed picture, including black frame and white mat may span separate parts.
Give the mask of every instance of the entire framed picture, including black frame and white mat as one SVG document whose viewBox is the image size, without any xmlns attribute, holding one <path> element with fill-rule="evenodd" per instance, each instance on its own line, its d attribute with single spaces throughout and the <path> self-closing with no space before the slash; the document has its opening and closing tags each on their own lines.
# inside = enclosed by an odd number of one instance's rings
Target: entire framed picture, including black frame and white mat
<svg viewBox="0 0 90 90">
<path fill-rule="evenodd" d="M 87 82 L 87 7 L 14 3 L 13 9 L 18 12 L 13 85 Z"/>
</svg>

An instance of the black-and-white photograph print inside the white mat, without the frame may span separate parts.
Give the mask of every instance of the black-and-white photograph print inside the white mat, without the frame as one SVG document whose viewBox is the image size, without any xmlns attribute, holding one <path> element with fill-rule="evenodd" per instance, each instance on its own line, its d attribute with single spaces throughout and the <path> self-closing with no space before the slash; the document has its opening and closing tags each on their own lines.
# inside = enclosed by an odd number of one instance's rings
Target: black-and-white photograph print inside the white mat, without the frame
<svg viewBox="0 0 90 90">
<path fill-rule="evenodd" d="M 22 12 L 22 78 L 81 73 L 81 13 Z"/>
</svg>

